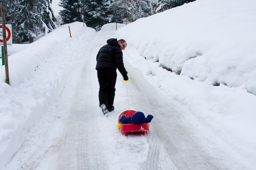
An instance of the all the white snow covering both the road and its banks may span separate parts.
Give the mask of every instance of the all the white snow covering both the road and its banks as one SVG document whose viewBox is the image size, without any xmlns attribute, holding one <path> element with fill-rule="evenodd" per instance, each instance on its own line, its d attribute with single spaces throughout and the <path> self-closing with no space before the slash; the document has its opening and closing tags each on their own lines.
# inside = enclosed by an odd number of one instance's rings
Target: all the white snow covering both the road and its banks
<svg viewBox="0 0 256 170">
<path fill-rule="evenodd" d="M 255 170 L 256 1 L 245 1 L 197 0 L 117 31 L 74 22 L 8 46 L 0 170 Z M 95 66 L 110 38 L 128 42 L 129 81 L 117 71 L 115 110 L 104 117 Z M 120 133 L 125 110 L 153 115 L 150 131 Z"/>
</svg>

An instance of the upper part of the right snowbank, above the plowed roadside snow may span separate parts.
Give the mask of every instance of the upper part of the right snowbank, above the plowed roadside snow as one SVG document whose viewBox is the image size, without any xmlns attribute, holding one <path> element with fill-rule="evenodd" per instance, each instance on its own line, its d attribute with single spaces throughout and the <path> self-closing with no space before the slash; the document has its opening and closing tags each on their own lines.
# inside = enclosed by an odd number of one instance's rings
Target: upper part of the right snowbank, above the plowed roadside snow
<svg viewBox="0 0 256 170">
<path fill-rule="evenodd" d="M 256 2 L 197 0 L 118 30 L 146 60 L 256 95 Z M 136 39 L 135 39 L 136 37 Z"/>
</svg>

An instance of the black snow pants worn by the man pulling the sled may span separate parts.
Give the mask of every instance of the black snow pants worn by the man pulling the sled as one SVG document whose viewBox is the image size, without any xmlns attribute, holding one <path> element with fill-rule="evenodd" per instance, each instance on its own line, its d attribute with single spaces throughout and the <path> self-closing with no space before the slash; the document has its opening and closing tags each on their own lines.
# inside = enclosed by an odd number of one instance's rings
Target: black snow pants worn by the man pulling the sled
<svg viewBox="0 0 256 170">
<path fill-rule="evenodd" d="M 97 70 L 99 81 L 99 103 L 100 106 L 105 104 L 110 109 L 114 103 L 115 85 L 117 73 L 115 69 Z"/>
</svg>

